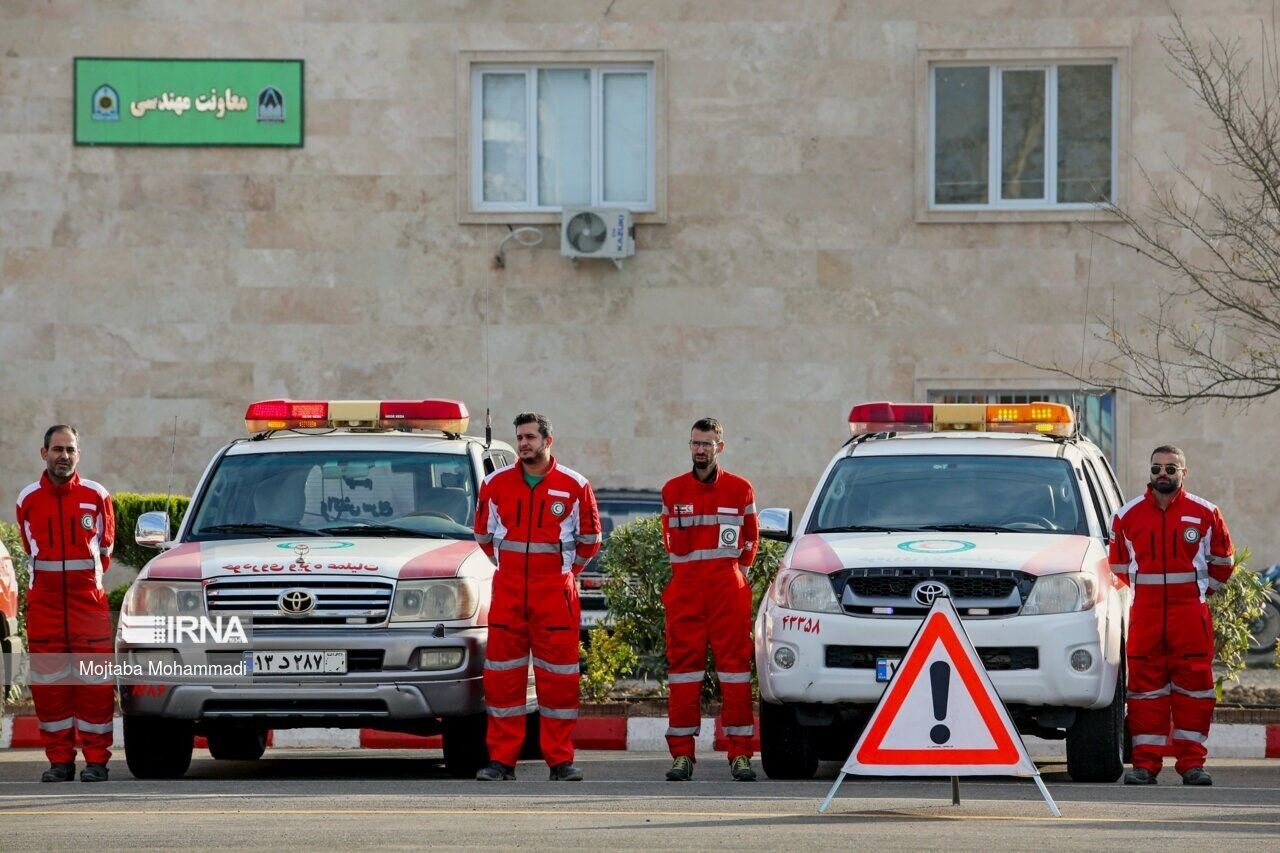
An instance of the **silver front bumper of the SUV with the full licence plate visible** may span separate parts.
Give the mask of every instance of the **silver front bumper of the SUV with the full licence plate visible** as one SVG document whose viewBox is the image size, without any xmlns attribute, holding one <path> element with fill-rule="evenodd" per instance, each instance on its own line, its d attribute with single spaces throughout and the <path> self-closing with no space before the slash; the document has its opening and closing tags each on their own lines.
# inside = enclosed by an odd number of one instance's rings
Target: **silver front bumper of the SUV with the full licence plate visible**
<svg viewBox="0 0 1280 853">
<path fill-rule="evenodd" d="M 435 637 L 429 629 L 379 631 L 289 630 L 257 631 L 253 651 L 346 649 L 348 667 L 362 657 L 381 660 L 376 669 L 342 675 L 247 675 L 201 681 L 165 678 L 157 683 L 122 684 L 120 707 L 128 715 L 178 720 L 255 720 L 273 727 L 415 721 L 484 712 L 481 686 L 488 629 L 453 629 Z M 419 670 L 419 649 L 463 649 L 452 670 Z M 116 658 L 128 662 L 136 652 L 155 647 L 116 644 Z M 229 665 L 243 651 L 184 647 L 175 651 L 182 665 Z M 364 654 L 361 654 L 364 653 Z M 145 680 L 145 679 L 134 679 Z"/>
</svg>

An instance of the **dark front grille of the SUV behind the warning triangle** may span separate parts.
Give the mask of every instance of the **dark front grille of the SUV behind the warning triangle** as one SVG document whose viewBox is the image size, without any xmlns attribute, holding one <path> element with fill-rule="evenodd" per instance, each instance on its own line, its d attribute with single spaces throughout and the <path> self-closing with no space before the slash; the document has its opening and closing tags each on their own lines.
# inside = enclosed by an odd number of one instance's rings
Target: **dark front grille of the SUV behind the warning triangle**
<svg viewBox="0 0 1280 853">
<path fill-rule="evenodd" d="M 919 617 L 929 605 L 913 596 L 925 581 L 947 588 L 961 616 L 1012 616 L 1021 610 L 1034 575 L 1007 569 L 846 569 L 831 576 L 846 613 L 854 616 Z"/>
</svg>

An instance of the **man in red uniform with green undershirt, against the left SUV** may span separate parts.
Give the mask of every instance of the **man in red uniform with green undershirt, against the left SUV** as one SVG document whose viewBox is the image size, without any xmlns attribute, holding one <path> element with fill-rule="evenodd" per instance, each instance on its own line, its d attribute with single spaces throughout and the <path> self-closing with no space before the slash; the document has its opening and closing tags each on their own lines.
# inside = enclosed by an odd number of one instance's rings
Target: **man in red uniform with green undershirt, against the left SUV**
<svg viewBox="0 0 1280 853">
<path fill-rule="evenodd" d="M 531 661 L 550 779 L 581 781 L 572 738 L 579 698 L 576 578 L 600 549 L 600 514 L 586 478 L 552 456 L 547 416 L 525 412 L 515 423 L 520 461 L 485 478 L 476 510 L 476 542 L 498 565 L 484 663 L 492 761 L 476 779 L 516 777 Z"/>
</svg>

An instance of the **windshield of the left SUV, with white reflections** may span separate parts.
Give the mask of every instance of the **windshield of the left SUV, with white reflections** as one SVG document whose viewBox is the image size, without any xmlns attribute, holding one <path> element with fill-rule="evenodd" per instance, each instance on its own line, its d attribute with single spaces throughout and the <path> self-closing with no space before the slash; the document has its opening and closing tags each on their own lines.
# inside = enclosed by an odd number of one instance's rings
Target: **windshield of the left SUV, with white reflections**
<svg viewBox="0 0 1280 853">
<path fill-rule="evenodd" d="M 475 483 L 466 456 L 311 451 L 224 456 L 188 539 L 273 535 L 470 539 Z"/>
</svg>

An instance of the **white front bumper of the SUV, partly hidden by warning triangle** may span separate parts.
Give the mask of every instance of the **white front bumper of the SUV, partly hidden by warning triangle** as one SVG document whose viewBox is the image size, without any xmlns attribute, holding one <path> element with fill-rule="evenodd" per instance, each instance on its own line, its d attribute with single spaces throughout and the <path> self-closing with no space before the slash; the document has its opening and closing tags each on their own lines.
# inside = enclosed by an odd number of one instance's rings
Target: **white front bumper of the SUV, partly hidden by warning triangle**
<svg viewBox="0 0 1280 853">
<path fill-rule="evenodd" d="M 876 680 L 876 669 L 827 666 L 826 647 L 905 649 L 919 626 L 920 621 L 914 619 L 810 613 L 767 601 L 755 625 L 760 695 L 768 702 L 874 704 L 886 686 Z M 1119 643 L 1106 642 L 1102 611 L 965 619 L 964 626 L 978 649 L 1032 647 L 1038 651 L 1037 669 L 988 671 L 1006 704 L 1074 708 L 1110 704 L 1119 671 Z M 782 669 L 773 660 L 780 646 L 795 653 L 795 665 L 790 669 Z M 1084 672 L 1071 669 L 1070 657 L 1076 649 L 1088 651 L 1093 658 Z"/>
</svg>

